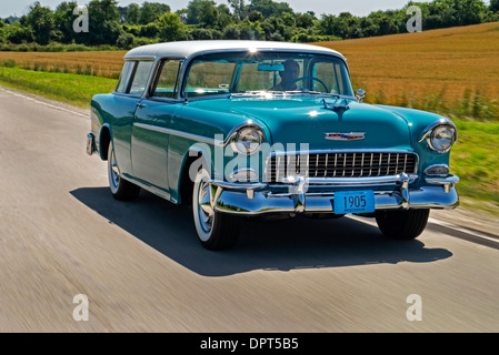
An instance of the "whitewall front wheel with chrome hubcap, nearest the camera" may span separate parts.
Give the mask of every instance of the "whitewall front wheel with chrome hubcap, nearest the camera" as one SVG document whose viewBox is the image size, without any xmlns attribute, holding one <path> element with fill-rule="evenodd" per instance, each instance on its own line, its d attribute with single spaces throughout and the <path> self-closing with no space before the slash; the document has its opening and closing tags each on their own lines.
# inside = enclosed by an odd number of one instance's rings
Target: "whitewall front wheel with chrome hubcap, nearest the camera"
<svg viewBox="0 0 499 355">
<path fill-rule="evenodd" d="M 213 251 L 231 248 L 239 237 L 239 221 L 234 216 L 213 210 L 211 200 L 216 190 L 210 185 L 209 179 L 210 175 L 204 169 L 200 169 L 196 175 L 192 191 L 196 231 L 199 241 L 206 248 Z"/>
</svg>

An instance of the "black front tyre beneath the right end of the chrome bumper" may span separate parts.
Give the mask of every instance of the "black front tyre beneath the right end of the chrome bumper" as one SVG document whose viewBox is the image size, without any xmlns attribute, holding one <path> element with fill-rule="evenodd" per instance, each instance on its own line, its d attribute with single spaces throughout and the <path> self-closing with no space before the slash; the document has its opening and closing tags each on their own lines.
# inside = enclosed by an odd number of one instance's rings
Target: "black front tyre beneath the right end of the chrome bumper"
<svg viewBox="0 0 499 355">
<path fill-rule="evenodd" d="M 376 222 L 381 232 L 395 240 L 413 240 L 425 230 L 430 210 L 382 211 Z"/>
</svg>

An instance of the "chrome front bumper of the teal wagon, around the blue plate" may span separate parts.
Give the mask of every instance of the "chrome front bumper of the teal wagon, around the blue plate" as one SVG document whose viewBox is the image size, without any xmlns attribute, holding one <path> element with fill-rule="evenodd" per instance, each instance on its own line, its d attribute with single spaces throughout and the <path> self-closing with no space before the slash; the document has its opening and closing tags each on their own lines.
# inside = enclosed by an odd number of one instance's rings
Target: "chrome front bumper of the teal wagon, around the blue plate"
<svg viewBox="0 0 499 355">
<path fill-rule="evenodd" d="M 301 178 L 293 183 L 279 185 L 281 190 L 285 187 L 286 192 L 275 192 L 276 186 L 266 183 L 230 183 L 212 180 L 210 204 L 217 212 L 236 215 L 333 213 L 335 189 L 347 187 L 373 190 L 376 210 L 451 210 L 459 205 L 455 186 L 459 178 L 455 175 L 427 178 L 425 186 L 410 189 L 416 179 L 417 175 L 400 174 L 372 179 L 330 179 L 320 183 Z M 315 192 L 318 185 L 320 192 Z M 388 186 L 392 189 L 387 189 Z"/>
</svg>

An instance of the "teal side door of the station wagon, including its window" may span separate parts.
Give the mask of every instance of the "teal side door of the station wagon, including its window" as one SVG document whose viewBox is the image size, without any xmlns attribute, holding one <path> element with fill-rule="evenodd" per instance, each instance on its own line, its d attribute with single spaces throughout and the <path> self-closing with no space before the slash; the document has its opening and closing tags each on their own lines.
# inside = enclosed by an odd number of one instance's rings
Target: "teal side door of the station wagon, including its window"
<svg viewBox="0 0 499 355">
<path fill-rule="evenodd" d="M 149 97 L 139 103 L 132 126 L 133 174 L 141 183 L 167 195 L 169 128 L 181 106 L 176 100 L 179 68 L 180 61 L 174 59 L 159 63 Z"/>
</svg>

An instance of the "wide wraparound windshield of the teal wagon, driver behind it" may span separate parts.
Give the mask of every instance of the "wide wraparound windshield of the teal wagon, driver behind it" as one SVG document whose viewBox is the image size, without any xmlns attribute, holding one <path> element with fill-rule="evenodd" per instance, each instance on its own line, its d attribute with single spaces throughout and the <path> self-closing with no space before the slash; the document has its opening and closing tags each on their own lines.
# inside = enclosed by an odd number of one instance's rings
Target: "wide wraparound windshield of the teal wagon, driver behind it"
<svg viewBox="0 0 499 355">
<path fill-rule="evenodd" d="M 199 98 L 269 91 L 353 97 L 341 59 L 295 52 L 224 52 L 198 57 L 187 70 L 183 94 Z"/>
</svg>

